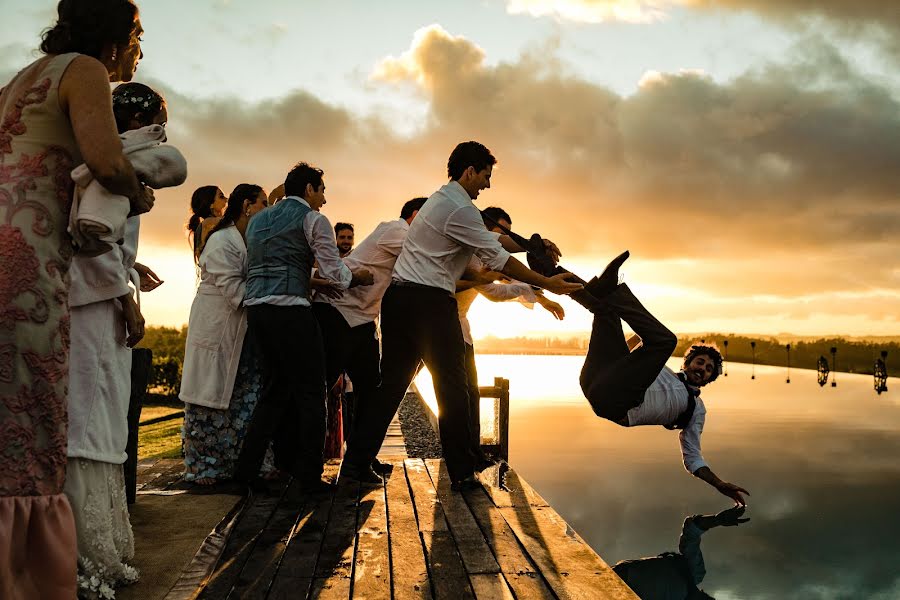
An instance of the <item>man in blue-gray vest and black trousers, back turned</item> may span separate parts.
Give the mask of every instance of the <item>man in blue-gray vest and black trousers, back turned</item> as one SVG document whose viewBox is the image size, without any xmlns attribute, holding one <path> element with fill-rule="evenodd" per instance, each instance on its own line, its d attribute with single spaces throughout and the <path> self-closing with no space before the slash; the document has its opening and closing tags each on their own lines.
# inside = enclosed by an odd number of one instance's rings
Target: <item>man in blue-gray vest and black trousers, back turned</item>
<svg viewBox="0 0 900 600">
<path fill-rule="evenodd" d="M 319 277 L 339 289 L 370 285 L 366 269 L 341 261 L 328 218 L 321 169 L 298 163 L 284 182 L 285 197 L 247 227 L 248 332 L 259 351 L 262 390 L 235 480 L 253 486 L 269 441 L 275 464 L 304 491 L 322 481 L 325 446 L 325 356 L 309 302 L 313 262 Z"/>
</svg>

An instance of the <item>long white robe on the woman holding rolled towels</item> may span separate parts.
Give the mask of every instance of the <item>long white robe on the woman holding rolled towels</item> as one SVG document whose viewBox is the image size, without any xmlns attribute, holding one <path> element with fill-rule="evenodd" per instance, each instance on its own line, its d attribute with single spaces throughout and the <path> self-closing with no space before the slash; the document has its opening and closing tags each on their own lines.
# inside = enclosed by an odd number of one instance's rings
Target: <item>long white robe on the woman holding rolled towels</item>
<svg viewBox="0 0 900 600">
<path fill-rule="evenodd" d="M 69 444 L 67 455 L 112 464 L 125 462 L 131 348 L 116 300 L 137 284 L 140 217 L 128 219 L 124 243 L 95 257 L 75 255 L 69 270 Z"/>
</svg>

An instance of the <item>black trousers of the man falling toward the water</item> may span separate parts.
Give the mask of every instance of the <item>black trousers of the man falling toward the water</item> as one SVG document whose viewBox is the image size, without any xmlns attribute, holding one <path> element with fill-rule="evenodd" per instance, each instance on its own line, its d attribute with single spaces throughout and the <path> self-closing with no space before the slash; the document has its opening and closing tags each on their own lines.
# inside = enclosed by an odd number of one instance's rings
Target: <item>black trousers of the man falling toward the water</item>
<svg viewBox="0 0 900 600">
<path fill-rule="evenodd" d="M 672 356 L 678 338 L 644 308 L 627 285 L 616 287 L 594 309 L 581 389 L 599 417 L 627 425 L 627 413 L 644 401 L 644 392 Z M 643 344 L 630 352 L 622 331 L 628 323 Z"/>
</svg>

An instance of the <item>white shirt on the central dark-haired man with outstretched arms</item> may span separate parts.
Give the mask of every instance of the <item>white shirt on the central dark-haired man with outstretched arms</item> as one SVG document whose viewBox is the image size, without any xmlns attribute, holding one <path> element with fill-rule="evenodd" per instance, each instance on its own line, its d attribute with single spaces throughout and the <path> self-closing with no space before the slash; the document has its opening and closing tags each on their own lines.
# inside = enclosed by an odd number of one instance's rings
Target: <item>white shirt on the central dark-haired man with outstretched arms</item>
<svg viewBox="0 0 900 600">
<path fill-rule="evenodd" d="M 495 271 L 510 257 L 485 228 L 468 192 L 451 181 L 428 198 L 410 225 L 393 278 L 454 294 L 472 254 Z"/>
</svg>

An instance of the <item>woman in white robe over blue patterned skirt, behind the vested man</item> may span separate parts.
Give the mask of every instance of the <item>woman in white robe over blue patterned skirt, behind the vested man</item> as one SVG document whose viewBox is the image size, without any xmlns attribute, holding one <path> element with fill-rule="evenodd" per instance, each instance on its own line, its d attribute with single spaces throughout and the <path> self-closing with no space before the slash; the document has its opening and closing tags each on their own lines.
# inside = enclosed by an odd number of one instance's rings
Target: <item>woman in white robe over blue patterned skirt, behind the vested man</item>
<svg viewBox="0 0 900 600">
<path fill-rule="evenodd" d="M 259 397 L 256 353 L 244 343 L 245 233 L 250 219 L 267 205 L 260 186 L 234 188 L 200 253 L 200 285 L 191 305 L 179 394 L 185 403 L 184 478 L 199 485 L 231 479 Z"/>
</svg>

